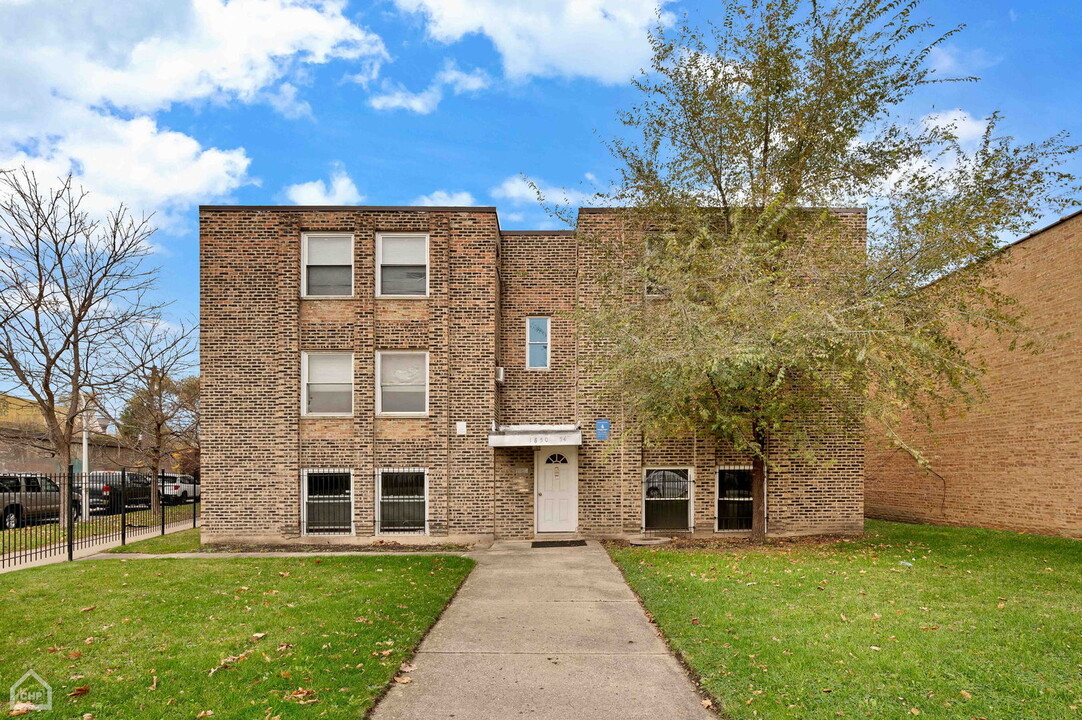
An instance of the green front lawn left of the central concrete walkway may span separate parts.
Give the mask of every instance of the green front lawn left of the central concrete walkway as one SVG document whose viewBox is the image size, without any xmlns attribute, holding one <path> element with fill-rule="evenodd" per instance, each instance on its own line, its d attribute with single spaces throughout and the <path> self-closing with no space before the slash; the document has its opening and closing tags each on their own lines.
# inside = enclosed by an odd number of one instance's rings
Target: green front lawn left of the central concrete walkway
<svg viewBox="0 0 1082 720">
<path fill-rule="evenodd" d="M 28 668 L 50 682 L 55 709 L 34 718 L 361 718 L 472 566 L 118 558 L 3 574 L 0 686 Z"/>
</svg>

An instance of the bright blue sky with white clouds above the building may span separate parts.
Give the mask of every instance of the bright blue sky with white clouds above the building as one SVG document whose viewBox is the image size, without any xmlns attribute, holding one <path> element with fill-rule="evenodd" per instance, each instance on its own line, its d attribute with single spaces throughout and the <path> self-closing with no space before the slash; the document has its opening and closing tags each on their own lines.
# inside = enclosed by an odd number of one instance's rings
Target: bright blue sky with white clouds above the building
<svg viewBox="0 0 1082 720">
<path fill-rule="evenodd" d="M 496 205 L 505 228 L 551 227 L 518 178 L 575 201 L 611 176 L 602 140 L 634 100 L 655 2 L 0 0 L 0 167 L 72 169 L 97 207 L 157 212 L 179 314 L 197 309 L 199 204 Z M 908 109 L 1082 139 L 1078 10 L 926 0 L 968 26 L 932 62 L 982 80 Z"/>
</svg>

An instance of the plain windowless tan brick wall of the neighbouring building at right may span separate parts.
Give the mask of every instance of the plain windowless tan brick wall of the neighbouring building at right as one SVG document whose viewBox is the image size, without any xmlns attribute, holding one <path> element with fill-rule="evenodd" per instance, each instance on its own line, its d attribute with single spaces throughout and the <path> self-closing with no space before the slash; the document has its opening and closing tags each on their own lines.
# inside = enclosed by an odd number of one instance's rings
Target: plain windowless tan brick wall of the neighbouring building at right
<svg viewBox="0 0 1082 720">
<path fill-rule="evenodd" d="M 915 434 L 932 472 L 873 434 L 869 516 L 1082 537 L 1082 215 L 1006 252 L 994 283 L 1026 309 L 1046 350 L 987 338 L 987 401 L 937 422 L 932 436 Z"/>
</svg>

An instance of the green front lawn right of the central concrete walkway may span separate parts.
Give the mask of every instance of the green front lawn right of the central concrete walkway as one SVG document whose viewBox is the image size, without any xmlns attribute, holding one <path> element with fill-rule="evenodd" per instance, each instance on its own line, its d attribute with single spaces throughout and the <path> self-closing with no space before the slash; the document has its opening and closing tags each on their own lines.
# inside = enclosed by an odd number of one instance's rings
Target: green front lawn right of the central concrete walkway
<svg viewBox="0 0 1082 720">
<path fill-rule="evenodd" d="M 610 553 L 733 720 L 1082 718 L 1082 542 L 867 529 Z"/>
</svg>

